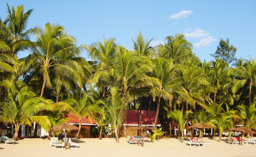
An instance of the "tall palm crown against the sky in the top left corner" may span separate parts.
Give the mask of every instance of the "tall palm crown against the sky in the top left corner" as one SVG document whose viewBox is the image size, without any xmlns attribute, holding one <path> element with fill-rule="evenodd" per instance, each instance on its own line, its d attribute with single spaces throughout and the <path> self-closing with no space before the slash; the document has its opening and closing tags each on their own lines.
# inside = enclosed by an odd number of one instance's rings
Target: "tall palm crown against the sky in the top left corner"
<svg viewBox="0 0 256 157">
<path fill-rule="evenodd" d="M 7 3 L 6 3 L 7 4 Z M 28 40 L 30 30 L 26 30 L 27 23 L 30 14 L 33 9 L 24 12 L 24 5 L 17 6 L 14 9 L 7 4 L 8 15 L 4 21 L 0 20 L 0 34 L 5 36 L 8 43 L 10 43 L 10 49 L 12 56 L 15 56 L 18 51 L 24 48 L 24 45 L 16 45 L 17 42 Z"/>
</svg>

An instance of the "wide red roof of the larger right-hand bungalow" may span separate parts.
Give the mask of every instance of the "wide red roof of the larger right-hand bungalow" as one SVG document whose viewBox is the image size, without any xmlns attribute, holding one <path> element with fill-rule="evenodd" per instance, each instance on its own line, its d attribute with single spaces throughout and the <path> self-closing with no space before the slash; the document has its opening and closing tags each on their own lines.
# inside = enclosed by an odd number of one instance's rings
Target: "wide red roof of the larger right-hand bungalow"
<svg viewBox="0 0 256 157">
<path fill-rule="evenodd" d="M 156 118 L 156 111 L 141 111 L 141 125 L 153 126 Z M 124 124 L 139 126 L 140 111 L 139 110 L 127 110 L 126 119 Z M 157 126 L 161 126 L 159 119 L 157 118 Z"/>
</svg>

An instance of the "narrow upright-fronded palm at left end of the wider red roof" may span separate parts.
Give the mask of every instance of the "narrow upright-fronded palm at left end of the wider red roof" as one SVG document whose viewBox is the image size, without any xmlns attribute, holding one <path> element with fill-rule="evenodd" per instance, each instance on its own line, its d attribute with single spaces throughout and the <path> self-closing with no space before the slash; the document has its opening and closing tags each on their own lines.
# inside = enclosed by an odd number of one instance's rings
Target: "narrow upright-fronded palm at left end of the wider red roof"
<svg viewBox="0 0 256 157">
<path fill-rule="evenodd" d="M 121 93 L 116 87 L 110 88 L 110 95 L 102 101 L 102 104 L 106 107 L 107 115 L 109 116 L 108 123 L 111 125 L 111 129 L 114 129 L 116 143 L 119 142 L 118 131 L 123 126 L 123 122 L 126 116 L 127 105 L 121 99 Z"/>
</svg>

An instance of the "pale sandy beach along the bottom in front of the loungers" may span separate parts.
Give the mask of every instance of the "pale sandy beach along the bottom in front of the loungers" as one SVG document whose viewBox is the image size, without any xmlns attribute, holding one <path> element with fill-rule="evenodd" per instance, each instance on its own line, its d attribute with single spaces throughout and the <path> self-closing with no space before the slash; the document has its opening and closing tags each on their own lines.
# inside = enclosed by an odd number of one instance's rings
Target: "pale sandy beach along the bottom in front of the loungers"
<svg viewBox="0 0 256 157">
<path fill-rule="evenodd" d="M 216 139 L 218 139 L 216 137 Z M 225 139 L 219 143 L 217 140 L 204 140 L 211 142 L 208 147 L 198 147 L 186 145 L 189 141 L 185 139 L 184 143 L 176 138 L 160 139 L 151 143 L 148 138 L 144 141 L 144 147 L 138 145 L 129 145 L 126 138 L 120 138 L 120 143 L 116 143 L 114 138 L 83 138 L 72 140 L 79 143 L 77 149 L 54 149 L 50 147 L 50 140 L 40 138 L 25 138 L 17 141 L 14 145 L 0 144 L 0 156 L 2 157 L 79 157 L 79 156 L 104 156 L 104 157 L 148 157 L 148 156 L 256 156 L 256 145 L 232 145 L 226 143 Z"/>
</svg>

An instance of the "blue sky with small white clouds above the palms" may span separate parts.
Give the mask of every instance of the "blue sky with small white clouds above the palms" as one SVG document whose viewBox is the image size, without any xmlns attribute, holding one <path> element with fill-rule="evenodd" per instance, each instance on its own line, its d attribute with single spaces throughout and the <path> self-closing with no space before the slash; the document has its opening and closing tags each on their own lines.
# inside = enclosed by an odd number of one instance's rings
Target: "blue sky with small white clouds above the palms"
<svg viewBox="0 0 256 157">
<path fill-rule="evenodd" d="M 256 52 L 256 1 L 52 1 L 8 0 L 25 11 L 33 8 L 28 28 L 60 24 L 77 44 L 91 44 L 105 38 L 132 49 L 132 40 L 141 31 L 152 45 L 163 43 L 168 35 L 184 33 L 193 44 L 193 52 L 202 61 L 212 60 L 220 38 L 229 38 L 237 48 L 236 57 L 249 59 Z M 0 17 L 7 15 L 5 1 L 0 2 Z M 19 57 L 26 56 L 20 52 Z M 88 59 L 88 54 L 82 54 Z"/>
</svg>

